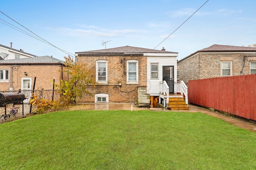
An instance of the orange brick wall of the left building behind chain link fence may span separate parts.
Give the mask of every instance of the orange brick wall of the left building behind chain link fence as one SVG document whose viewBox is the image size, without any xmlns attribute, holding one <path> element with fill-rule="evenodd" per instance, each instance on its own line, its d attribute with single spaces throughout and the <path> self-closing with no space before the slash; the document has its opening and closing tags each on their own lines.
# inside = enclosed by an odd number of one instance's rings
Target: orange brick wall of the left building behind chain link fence
<svg viewBox="0 0 256 170">
<path fill-rule="evenodd" d="M 55 79 L 55 83 L 60 84 L 60 80 L 62 78 L 61 65 L 38 65 L 38 64 L 31 64 L 31 65 L 20 65 L 16 67 L 18 69 L 13 70 L 13 88 L 14 90 L 21 89 L 21 79 L 22 78 L 31 78 L 31 89 L 34 84 L 34 77 L 36 77 L 36 84 L 35 89 L 44 88 L 45 90 L 51 90 L 53 88 L 53 80 Z M 4 83 L 0 82 L 0 91 L 9 90 L 10 88 L 10 81 L 11 81 L 11 68 L 10 65 L 0 66 L 0 69 L 8 69 L 9 70 L 9 81 Z M 28 75 L 25 76 L 24 72 Z M 64 79 L 67 78 L 65 73 L 63 73 Z"/>
</svg>

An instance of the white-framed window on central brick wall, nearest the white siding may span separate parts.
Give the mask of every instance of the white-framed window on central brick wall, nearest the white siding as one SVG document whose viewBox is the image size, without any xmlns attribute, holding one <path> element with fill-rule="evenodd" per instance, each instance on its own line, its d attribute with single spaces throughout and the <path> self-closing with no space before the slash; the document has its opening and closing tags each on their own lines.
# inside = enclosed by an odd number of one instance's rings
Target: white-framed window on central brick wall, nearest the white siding
<svg viewBox="0 0 256 170">
<path fill-rule="evenodd" d="M 127 61 L 127 83 L 138 83 L 138 61 L 136 60 Z"/>
</svg>

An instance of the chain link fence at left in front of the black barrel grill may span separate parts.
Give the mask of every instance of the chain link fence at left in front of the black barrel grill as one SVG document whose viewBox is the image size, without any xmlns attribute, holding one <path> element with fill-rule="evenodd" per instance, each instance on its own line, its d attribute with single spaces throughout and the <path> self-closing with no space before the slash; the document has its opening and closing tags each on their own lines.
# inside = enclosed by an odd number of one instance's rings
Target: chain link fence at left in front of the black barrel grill
<svg viewBox="0 0 256 170">
<path fill-rule="evenodd" d="M 60 98 L 57 90 L 0 91 L 0 123 L 33 113 L 37 109 L 29 103 L 33 93 L 40 99 L 58 100 Z"/>
</svg>

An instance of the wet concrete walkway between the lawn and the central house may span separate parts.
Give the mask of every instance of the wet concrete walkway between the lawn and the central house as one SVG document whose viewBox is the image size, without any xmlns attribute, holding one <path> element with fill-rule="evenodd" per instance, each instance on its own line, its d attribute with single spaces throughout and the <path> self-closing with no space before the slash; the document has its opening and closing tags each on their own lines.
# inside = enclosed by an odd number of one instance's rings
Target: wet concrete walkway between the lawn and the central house
<svg viewBox="0 0 256 170">
<path fill-rule="evenodd" d="M 228 123 L 234 124 L 238 127 L 248 129 L 250 131 L 253 131 L 256 133 L 256 125 L 253 123 L 246 122 L 242 119 L 237 119 L 231 116 L 223 115 L 218 112 L 210 111 L 208 109 L 204 109 L 202 107 L 189 105 L 190 110 L 186 110 L 182 112 L 201 112 L 205 113 L 207 115 L 211 115 L 213 117 L 217 117 L 219 119 L 222 119 Z M 134 104 L 130 103 L 108 103 L 108 104 L 94 104 L 94 103 L 84 103 L 84 104 L 77 104 L 76 107 L 68 108 L 68 110 L 150 110 L 150 111 L 170 111 L 170 109 L 166 108 L 147 108 L 147 107 L 137 107 Z M 63 109 L 66 110 L 66 109 Z"/>
</svg>

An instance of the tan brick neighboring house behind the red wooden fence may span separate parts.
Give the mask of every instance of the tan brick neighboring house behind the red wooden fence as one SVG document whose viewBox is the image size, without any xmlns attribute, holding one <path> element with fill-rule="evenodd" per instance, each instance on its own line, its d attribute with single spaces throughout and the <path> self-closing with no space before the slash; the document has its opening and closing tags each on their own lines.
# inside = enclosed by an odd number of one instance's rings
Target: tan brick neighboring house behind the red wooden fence
<svg viewBox="0 0 256 170">
<path fill-rule="evenodd" d="M 256 73 L 256 48 L 212 45 L 178 61 L 178 80 L 238 76 Z"/>
</svg>

